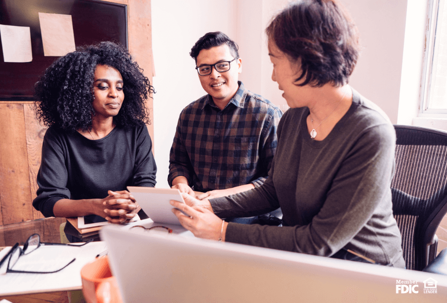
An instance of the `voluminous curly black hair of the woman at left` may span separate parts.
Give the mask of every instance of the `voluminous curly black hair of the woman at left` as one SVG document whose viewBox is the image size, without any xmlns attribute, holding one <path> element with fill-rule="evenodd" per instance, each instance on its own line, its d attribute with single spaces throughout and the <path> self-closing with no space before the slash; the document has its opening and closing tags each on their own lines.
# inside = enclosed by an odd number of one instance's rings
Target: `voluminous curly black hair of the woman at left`
<svg viewBox="0 0 447 303">
<path fill-rule="evenodd" d="M 35 85 L 39 121 L 66 131 L 91 130 L 93 80 L 97 65 L 115 68 L 123 77 L 124 101 L 113 122 L 117 126 L 150 123 L 146 100 L 154 92 L 129 52 L 113 42 L 76 48 L 56 59 Z"/>
</svg>

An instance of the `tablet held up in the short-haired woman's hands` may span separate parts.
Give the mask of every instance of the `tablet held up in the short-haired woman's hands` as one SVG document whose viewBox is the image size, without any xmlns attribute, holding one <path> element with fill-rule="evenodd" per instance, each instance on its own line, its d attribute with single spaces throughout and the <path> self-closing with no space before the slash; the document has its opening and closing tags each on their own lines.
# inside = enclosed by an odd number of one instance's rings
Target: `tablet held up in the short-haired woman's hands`
<svg viewBox="0 0 447 303">
<path fill-rule="evenodd" d="M 180 225 L 169 204 L 170 200 L 185 203 L 178 189 L 138 186 L 128 186 L 127 189 L 153 222 Z"/>
</svg>

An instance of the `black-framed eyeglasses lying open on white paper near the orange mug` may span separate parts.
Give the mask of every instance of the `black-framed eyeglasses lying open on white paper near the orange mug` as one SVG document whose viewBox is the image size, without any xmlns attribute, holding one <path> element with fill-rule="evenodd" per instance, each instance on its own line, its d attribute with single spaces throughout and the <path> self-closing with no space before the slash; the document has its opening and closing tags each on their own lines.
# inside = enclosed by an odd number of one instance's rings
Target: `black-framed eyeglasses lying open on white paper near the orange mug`
<svg viewBox="0 0 447 303">
<path fill-rule="evenodd" d="M 6 268 L 6 273 L 27 273 L 27 274 L 52 274 L 52 273 L 57 273 L 58 271 L 61 271 L 64 268 L 66 268 L 67 266 L 69 266 L 70 264 L 72 264 L 74 262 L 74 260 L 76 260 L 76 258 L 73 258 L 73 260 L 70 261 L 64 267 L 62 267 L 62 268 L 60 268 L 58 270 L 54 270 L 54 271 L 23 271 L 23 270 L 14 270 L 14 269 L 12 269 L 12 267 L 14 267 L 14 265 L 17 263 L 17 261 L 20 258 L 20 256 L 27 255 L 27 254 L 35 251 L 41 245 L 66 245 L 66 246 L 78 246 L 79 247 L 79 246 L 84 246 L 85 244 L 90 243 L 91 241 L 92 241 L 92 239 L 90 239 L 87 242 L 82 243 L 82 244 L 45 243 L 45 242 L 41 242 L 40 241 L 39 234 L 34 233 L 34 234 L 30 235 L 29 238 L 26 240 L 25 244 L 23 245 L 23 248 L 18 246 L 18 243 L 16 243 L 11 248 L 11 250 L 8 253 L 10 256 L 9 256 L 8 266 Z"/>
</svg>

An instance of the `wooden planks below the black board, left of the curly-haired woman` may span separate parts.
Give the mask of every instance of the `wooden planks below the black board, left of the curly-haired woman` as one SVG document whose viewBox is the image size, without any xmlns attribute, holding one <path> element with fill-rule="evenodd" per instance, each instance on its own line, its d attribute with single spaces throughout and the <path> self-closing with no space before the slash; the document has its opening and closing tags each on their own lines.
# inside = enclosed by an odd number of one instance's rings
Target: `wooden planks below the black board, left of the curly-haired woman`
<svg viewBox="0 0 447 303">
<path fill-rule="evenodd" d="M 29 102 L 0 101 L 1 225 L 43 218 L 31 202 L 46 128 L 34 118 L 32 107 Z"/>
</svg>

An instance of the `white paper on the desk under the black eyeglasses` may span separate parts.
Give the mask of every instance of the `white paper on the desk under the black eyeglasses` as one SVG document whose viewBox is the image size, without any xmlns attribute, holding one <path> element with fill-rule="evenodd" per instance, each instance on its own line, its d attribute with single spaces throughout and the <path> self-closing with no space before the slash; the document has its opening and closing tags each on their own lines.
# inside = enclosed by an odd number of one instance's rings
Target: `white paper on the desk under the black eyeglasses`
<svg viewBox="0 0 447 303">
<path fill-rule="evenodd" d="M 103 241 L 91 242 L 81 247 L 41 246 L 30 254 L 21 256 L 13 269 L 48 271 L 63 267 L 73 258 L 76 260 L 60 272 L 53 274 L 0 274 L 0 296 L 80 290 L 82 288 L 81 268 L 94 261 L 96 255 L 106 248 Z M 0 259 L 8 251 L 9 247 L 0 251 Z M 7 262 L 1 266 L 1 272 L 5 271 L 5 266 Z"/>
</svg>

